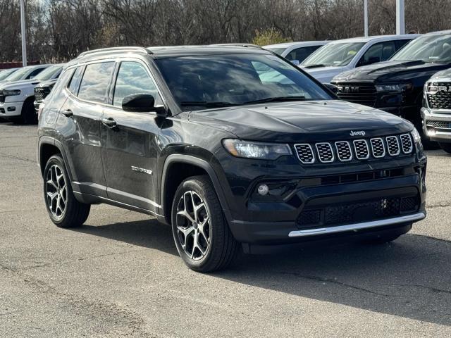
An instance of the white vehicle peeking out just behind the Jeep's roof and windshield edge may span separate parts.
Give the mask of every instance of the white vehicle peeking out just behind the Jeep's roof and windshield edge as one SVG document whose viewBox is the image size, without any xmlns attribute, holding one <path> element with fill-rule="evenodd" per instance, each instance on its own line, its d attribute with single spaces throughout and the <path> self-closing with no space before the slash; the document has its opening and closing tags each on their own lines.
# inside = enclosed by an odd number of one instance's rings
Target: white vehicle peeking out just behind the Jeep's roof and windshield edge
<svg viewBox="0 0 451 338">
<path fill-rule="evenodd" d="M 263 48 L 283 56 L 295 65 L 299 65 L 310 54 L 316 51 L 316 49 L 319 49 L 319 47 L 324 46 L 329 42 L 330 41 L 285 42 L 283 44 L 270 44 L 268 46 L 263 46 Z"/>
</svg>

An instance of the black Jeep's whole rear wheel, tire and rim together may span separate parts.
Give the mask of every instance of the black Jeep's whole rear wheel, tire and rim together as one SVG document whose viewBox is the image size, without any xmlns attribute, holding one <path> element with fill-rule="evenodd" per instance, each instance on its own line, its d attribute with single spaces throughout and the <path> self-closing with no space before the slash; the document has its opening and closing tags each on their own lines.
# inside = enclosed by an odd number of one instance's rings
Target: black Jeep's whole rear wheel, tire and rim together
<svg viewBox="0 0 451 338">
<path fill-rule="evenodd" d="M 80 227 L 85 223 L 91 206 L 75 199 L 60 155 L 51 156 L 47 161 L 43 190 L 47 212 L 57 227 Z"/>
</svg>

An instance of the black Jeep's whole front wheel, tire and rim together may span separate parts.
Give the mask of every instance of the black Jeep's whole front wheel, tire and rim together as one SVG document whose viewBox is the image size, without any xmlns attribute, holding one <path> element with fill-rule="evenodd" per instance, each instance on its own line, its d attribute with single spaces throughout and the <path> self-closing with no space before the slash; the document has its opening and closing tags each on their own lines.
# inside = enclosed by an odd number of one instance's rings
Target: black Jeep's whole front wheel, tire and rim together
<svg viewBox="0 0 451 338">
<path fill-rule="evenodd" d="M 180 184 L 171 214 L 175 246 L 190 269 L 209 273 L 232 263 L 239 244 L 208 176 L 189 177 Z"/>
</svg>

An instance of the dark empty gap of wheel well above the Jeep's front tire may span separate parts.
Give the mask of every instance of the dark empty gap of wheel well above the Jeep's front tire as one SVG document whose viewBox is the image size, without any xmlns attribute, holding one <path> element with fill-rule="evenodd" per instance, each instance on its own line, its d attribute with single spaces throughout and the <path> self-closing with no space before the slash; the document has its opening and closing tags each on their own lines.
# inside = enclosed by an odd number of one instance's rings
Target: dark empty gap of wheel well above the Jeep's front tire
<svg viewBox="0 0 451 338">
<path fill-rule="evenodd" d="M 176 162 L 171 163 L 166 170 L 166 180 L 163 182 L 163 215 L 168 224 L 171 224 L 171 208 L 175 191 L 178 186 L 188 177 L 206 175 L 209 176 L 204 168 L 191 163 Z"/>
</svg>

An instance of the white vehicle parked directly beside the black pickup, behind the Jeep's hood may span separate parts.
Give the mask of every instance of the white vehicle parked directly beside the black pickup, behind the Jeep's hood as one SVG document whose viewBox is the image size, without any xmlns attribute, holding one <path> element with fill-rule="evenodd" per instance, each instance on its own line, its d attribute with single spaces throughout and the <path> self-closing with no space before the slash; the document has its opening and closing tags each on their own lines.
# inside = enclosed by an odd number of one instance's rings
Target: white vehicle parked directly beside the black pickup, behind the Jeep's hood
<svg viewBox="0 0 451 338">
<path fill-rule="evenodd" d="M 388 60 L 419 35 L 380 35 L 336 40 L 317 49 L 300 65 L 303 70 L 323 83 L 346 70 Z"/>
</svg>

